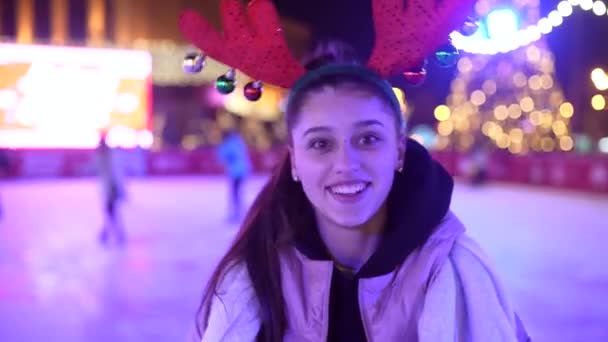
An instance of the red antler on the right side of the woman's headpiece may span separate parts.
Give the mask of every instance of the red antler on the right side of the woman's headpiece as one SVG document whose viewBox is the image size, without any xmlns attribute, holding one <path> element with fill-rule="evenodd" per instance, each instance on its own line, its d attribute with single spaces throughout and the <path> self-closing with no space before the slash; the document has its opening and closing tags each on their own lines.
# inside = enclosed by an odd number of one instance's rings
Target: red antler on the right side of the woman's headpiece
<svg viewBox="0 0 608 342">
<path fill-rule="evenodd" d="M 446 43 L 475 0 L 372 0 L 376 43 L 368 67 L 383 77 L 402 73 Z"/>
</svg>

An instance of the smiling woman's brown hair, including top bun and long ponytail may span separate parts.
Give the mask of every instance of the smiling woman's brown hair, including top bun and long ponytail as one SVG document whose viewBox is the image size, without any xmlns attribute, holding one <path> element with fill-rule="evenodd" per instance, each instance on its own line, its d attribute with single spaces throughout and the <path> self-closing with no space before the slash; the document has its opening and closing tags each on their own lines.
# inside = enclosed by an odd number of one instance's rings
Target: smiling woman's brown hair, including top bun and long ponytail
<svg viewBox="0 0 608 342">
<path fill-rule="evenodd" d="M 356 63 L 357 59 L 352 50 L 343 44 L 331 43 L 320 46 L 321 48 L 317 48 L 309 58 L 307 68 L 312 69 L 327 63 Z M 359 94 L 384 99 L 375 87 L 357 78 L 328 77 L 302 91 L 301 96 L 295 100 L 296 103 L 291 106 L 292 110 L 286 113 L 290 132 L 296 124 L 299 108 L 306 101 L 306 97 L 328 86 L 357 90 Z M 395 113 L 395 119 L 399 129 L 400 113 Z M 262 188 L 247 213 L 237 237 L 211 276 L 198 310 L 199 336 L 207 327 L 211 301 L 223 276 L 235 265 L 244 263 L 260 305 L 262 328 L 258 340 L 282 341 L 287 327 L 287 313 L 281 287 L 279 253 L 293 246 L 296 236 L 306 234 L 306 230 L 315 227 L 316 224 L 312 205 L 300 183 L 292 179 L 291 168 L 286 149 L 270 180 Z"/>
</svg>

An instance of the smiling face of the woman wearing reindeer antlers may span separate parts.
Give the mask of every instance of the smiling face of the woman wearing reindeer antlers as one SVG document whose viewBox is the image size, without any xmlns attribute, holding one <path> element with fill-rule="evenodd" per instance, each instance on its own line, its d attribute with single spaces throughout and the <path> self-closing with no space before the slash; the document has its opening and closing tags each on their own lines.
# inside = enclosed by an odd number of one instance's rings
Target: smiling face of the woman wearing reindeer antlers
<svg viewBox="0 0 608 342">
<path fill-rule="evenodd" d="M 291 131 L 293 172 L 317 215 L 342 227 L 384 204 L 404 144 L 394 114 L 375 96 L 323 88 L 308 95 Z"/>
</svg>

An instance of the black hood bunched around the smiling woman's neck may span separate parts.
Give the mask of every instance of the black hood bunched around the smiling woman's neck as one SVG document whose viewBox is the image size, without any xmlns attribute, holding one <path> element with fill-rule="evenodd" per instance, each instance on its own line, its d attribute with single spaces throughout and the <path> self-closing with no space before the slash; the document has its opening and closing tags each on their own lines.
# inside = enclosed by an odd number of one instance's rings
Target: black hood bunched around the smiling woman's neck
<svg viewBox="0 0 608 342">
<path fill-rule="evenodd" d="M 403 172 L 395 175 L 388 198 L 387 227 L 376 252 L 358 278 L 392 272 L 422 246 L 450 208 L 454 181 L 415 140 L 408 139 Z M 296 248 L 313 260 L 331 260 L 316 225 L 296 236 Z"/>
</svg>

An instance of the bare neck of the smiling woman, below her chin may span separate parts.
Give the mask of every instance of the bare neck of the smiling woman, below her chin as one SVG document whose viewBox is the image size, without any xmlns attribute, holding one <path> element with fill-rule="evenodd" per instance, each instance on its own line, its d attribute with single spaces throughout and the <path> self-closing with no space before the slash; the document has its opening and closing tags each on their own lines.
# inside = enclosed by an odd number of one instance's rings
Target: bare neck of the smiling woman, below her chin
<svg viewBox="0 0 608 342">
<path fill-rule="evenodd" d="M 342 269 L 359 270 L 374 254 L 386 223 L 386 203 L 366 223 L 344 227 L 317 215 L 319 233 L 327 250 Z"/>
</svg>

